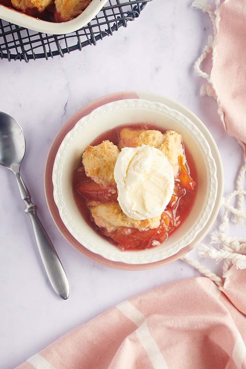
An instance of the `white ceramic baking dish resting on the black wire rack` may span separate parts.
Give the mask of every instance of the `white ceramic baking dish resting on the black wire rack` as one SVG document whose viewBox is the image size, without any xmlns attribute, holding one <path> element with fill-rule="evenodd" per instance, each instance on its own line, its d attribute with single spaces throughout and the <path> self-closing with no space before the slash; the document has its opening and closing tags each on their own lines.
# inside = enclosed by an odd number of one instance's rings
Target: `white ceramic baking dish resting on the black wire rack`
<svg viewBox="0 0 246 369">
<path fill-rule="evenodd" d="M 70 21 L 62 23 L 43 21 L 4 5 L 0 5 L 0 17 L 29 30 L 51 35 L 63 35 L 75 32 L 88 24 L 99 13 L 105 3 L 107 3 L 107 0 L 92 0 L 83 13 Z"/>
</svg>

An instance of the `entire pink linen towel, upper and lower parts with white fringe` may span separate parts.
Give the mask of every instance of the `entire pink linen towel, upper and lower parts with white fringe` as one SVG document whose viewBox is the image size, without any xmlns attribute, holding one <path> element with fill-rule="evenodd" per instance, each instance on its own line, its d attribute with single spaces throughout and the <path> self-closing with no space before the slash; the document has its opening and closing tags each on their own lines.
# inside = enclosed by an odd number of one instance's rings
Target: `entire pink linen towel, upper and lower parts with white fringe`
<svg viewBox="0 0 246 369">
<path fill-rule="evenodd" d="M 226 131 L 245 150 L 246 1 L 215 0 L 215 5 L 212 11 L 205 0 L 193 4 L 210 15 L 214 26 L 195 69 L 208 80 L 202 94 L 215 97 Z M 208 75 L 200 64 L 210 52 Z M 225 283 L 207 271 L 215 283 L 198 277 L 140 294 L 67 333 L 18 369 L 246 369 L 246 240 L 226 235 L 229 220 L 243 223 L 246 218 L 245 170 L 246 161 L 237 190 L 222 204 L 220 232 L 212 235 L 211 242 L 223 247 L 198 248 L 200 256 L 225 260 Z M 229 204 L 233 196 L 238 196 L 237 208 Z"/>
</svg>

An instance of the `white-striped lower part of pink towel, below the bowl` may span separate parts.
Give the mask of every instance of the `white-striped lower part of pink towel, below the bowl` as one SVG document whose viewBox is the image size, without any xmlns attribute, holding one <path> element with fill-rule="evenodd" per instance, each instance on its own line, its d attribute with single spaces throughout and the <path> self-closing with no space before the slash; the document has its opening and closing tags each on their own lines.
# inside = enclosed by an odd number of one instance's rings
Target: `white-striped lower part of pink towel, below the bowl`
<svg viewBox="0 0 246 369">
<path fill-rule="evenodd" d="M 245 369 L 246 274 L 242 279 L 240 272 L 235 269 L 224 292 L 197 277 L 140 294 L 69 332 L 18 369 Z"/>
</svg>

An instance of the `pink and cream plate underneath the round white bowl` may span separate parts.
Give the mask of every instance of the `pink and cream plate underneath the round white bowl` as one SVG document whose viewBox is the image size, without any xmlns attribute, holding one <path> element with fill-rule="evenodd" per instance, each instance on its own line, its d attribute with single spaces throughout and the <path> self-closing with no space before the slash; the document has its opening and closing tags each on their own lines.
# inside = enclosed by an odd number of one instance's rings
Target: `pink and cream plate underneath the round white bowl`
<svg viewBox="0 0 246 369">
<path fill-rule="evenodd" d="M 103 258 L 102 256 L 95 254 L 91 251 L 89 251 L 87 248 L 85 248 L 83 245 L 81 245 L 67 230 L 66 226 L 62 222 L 58 208 L 55 204 L 54 198 L 53 198 L 53 183 L 52 183 L 52 171 L 53 171 L 53 165 L 55 161 L 56 153 L 60 147 L 60 144 L 62 143 L 64 137 L 66 134 L 75 126 L 78 120 L 83 118 L 85 115 L 91 113 L 95 108 L 102 106 L 104 104 L 110 103 L 111 101 L 117 101 L 117 100 L 123 100 L 123 99 L 145 99 L 149 101 L 156 101 L 165 104 L 166 106 L 180 111 L 182 114 L 186 115 L 202 132 L 202 134 L 207 139 L 212 155 L 216 162 L 216 168 L 217 168 L 217 180 L 218 180 L 218 192 L 217 192 L 217 198 L 215 202 L 214 209 L 212 211 L 212 215 L 209 218 L 209 221 L 207 224 L 204 225 L 203 230 L 200 232 L 199 237 L 197 237 L 192 244 L 187 245 L 186 247 L 182 248 L 177 254 L 174 254 L 170 256 L 169 258 L 163 259 L 161 261 L 148 263 L 148 264 L 126 264 L 122 262 L 114 262 L 110 261 L 108 259 Z M 199 241 L 197 239 L 201 239 L 201 237 L 205 237 L 209 229 L 211 228 L 212 224 L 214 223 L 214 220 L 218 214 L 219 208 L 220 208 L 220 202 L 221 197 L 223 193 L 223 170 L 222 170 L 222 163 L 221 158 L 218 152 L 218 148 L 215 145 L 214 139 L 212 138 L 211 134 L 207 130 L 207 128 L 204 126 L 204 124 L 193 114 L 191 111 L 189 111 L 184 106 L 180 105 L 174 100 L 167 99 L 164 96 L 148 93 L 148 92 L 120 92 L 120 93 L 114 93 L 110 94 L 104 97 L 101 97 L 99 99 L 96 99 L 92 101 L 91 103 L 85 105 L 81 109 L 79 109 L 75 114 L 72 115 L 72 117 L 63 125 L 63 127 L 60 129 L 58 134 L 56 135 L 52 145 L 51 149 L 48 154 L 48 158 L 46 161 L 45 166 L 45 177 L 44 177 L 44 184 L 45 184 L 45 196 L 46 201 L 48 204 L 49 211 L 51 213 L 51 216 L 53 218 L 53 221 L 55 222 L 57 228 L 63 235 L 63 237 L 71 244 L 77 251 L 79 251 L 81 254 L 87 256 L 91 260 L 100 263 L 105 266 L 109 266 L 111 268 L 115 269 L 123 269 L 123 270 L 144 270 L 144 269 L 152 269 L 157 268 L 159 266 L 168 264 L 172 261 L 175 261 L 185 254 L 187 254 L 191 249 L 193 249 Z"/>
</svg>

